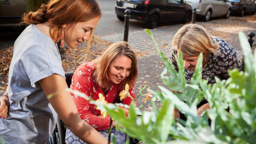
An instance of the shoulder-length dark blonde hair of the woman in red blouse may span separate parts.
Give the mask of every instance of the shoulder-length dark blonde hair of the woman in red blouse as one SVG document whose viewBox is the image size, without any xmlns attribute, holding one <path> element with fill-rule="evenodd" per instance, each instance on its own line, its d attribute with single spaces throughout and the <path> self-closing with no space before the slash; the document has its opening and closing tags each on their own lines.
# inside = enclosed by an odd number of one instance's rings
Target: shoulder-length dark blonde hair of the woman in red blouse
<svg viewBox="0 0 256 144">
<path fill-rule="evenodd" d="M 101 57 L 94 60 L 96 65 L 93 68 L 95 69 L 93 76 L 95 76 L 97 84 L 102 88 L 109 88 L 112 85 L 112 82 L 108 77 L 108 69 L 110 63 L 117 56 L 127 56 L 132 60 L 130 75 L 121 81 L 121 87 L 119 88 L 124 88 L 125 84 L 134 87 L 138 75 L 137 58 L 135 52 L 126 41 L 119 41 L 110 45 Z"/>
</svg>

